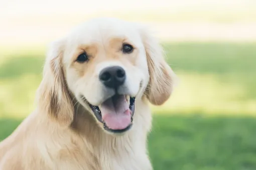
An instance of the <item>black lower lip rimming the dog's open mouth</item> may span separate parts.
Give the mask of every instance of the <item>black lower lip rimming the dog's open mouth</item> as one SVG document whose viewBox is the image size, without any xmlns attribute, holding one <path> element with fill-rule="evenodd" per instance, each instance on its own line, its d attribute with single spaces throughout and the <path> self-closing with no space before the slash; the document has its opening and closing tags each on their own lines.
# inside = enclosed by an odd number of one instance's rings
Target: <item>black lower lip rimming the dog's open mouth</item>
<svg viewBox="0 0 256 170">
<path fill-rule="evenodd" d="M 115 94 L 116 95 L 116 94 Z M 126 95 L 126 96 L 130 96 L 129 94 L 123 94 L 123 95 Z M 113 97 L 114 95 L 112 95 L 111 97 Z M 131 114 L 131 123 L 123 128 L 123 129 L 111 129 L 111 128 L 108 128 L 107 125 L 105 124 L 105 122 L 102 120 L 102 117 L 101 117 L 101 111 L 99 109 L 98 106 L 96 105 L 92 105 L 91 103 L 88 102 L 88 100 L 85 98 L 85 96 L 82 95 L 82 98 L 83 100 L 90 106 L 92 112 L 94 113 L 95 117 L 97 118 L 98 121 L 100 121 L 102 124 L 103 124 L 103 128 L 106 130 L 106 131 L 109 131 L 109 132 L 114 132 L 114 133 L 122 133 L 122 132 L 125 132 L 127 130 L 129 130 L 132 125 L 133 125 L 133 116 L 134 116 L 134 113 L 135 113 L 135 99 L 136 99 L 136 96 L 132 97 L 130 96 L 130 105 L 129 105 L 129 108 L 132 112 Z M 108 97 L 110 98 L 110 97 Z M 108 99 L 107 98 L 107 99 Z M 104 101 L 103 101 L 104 102 Z M 100 105 L 100 104 L 99 104 Z"/>
</svg>

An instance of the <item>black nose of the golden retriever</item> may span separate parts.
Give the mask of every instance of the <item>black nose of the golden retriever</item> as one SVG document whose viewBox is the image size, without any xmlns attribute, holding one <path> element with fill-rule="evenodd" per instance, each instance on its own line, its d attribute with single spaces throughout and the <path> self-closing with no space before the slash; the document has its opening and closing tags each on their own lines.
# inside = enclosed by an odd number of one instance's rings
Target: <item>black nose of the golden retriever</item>
<svg viewBox="0 0 256 170">
<path fill-rule="evenodd" d="M 120 66 L 109 66 L 99 73 L 100 81 L 109 88 L 117 88 L 126 78 L 125 71 Z"/>
</svg>

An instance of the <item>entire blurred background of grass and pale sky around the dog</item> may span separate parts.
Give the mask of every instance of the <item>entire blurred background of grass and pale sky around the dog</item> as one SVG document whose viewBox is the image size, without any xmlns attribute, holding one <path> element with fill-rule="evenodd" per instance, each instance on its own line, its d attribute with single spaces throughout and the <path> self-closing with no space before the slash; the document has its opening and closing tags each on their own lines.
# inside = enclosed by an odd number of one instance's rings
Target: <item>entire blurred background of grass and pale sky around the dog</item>
<svg viewBox="0 0 256 170">
<path fill-rule="evenodd" d="M 145 23 L 179 77 L 153 109 L 155 169 L 256 169 L 255 0 L 6 0 L 0 5 L 0 140 L 34 108 L 47 45 L 97 16 Z"/>
</svg>

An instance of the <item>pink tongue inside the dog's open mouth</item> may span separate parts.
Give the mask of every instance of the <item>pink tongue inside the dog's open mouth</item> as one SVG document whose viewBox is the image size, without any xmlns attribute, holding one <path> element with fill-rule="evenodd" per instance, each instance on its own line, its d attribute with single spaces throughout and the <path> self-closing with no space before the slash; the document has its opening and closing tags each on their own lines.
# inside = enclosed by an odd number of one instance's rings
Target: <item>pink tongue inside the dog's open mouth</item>
<svg viewBox="0 0 256 170">
<path fill-rule="evenodd" d="M 124 95 L 115 95 L 100 105 L 102 120 L 113 130 L 124 129 L 131 123 L 131 110 Z"/>
</svg>

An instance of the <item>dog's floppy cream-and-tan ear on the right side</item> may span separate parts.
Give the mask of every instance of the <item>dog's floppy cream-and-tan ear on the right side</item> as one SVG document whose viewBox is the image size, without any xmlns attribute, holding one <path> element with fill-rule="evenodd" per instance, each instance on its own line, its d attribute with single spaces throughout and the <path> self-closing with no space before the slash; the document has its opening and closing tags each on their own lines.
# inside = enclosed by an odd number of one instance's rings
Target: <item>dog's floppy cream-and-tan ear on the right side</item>
<svg viewBox="0 0 256 170">
<path fill-rule="evenodd" d="M 145 94 L 152 104 L 161 105 L 170 97 L 173 91 L 175 74 L 165 61 L 161 44 L 152 36 L 150 30 L 143 27 L 141 29 L 141 35 L 150 74 L 150 80 Z"/>
</svg>

